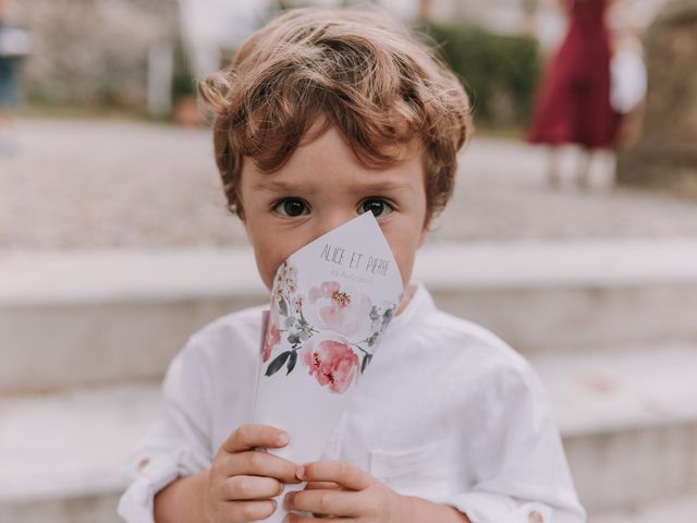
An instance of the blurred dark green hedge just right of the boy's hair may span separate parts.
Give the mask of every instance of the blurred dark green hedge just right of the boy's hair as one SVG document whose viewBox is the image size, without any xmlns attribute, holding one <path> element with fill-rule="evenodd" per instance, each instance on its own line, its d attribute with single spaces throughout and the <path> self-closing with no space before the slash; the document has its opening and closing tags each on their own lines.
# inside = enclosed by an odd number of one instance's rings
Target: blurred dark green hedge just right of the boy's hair
<svg viewBox="0 0 697 523">
<path fill-rule="evenodd" d="M 541 63 L 535 38 L 455 23 L 428 24 L 419 31 L 435 40 L 460 77 L 478 124 L 491 129 L 527 124 Z"/>
</svg>

